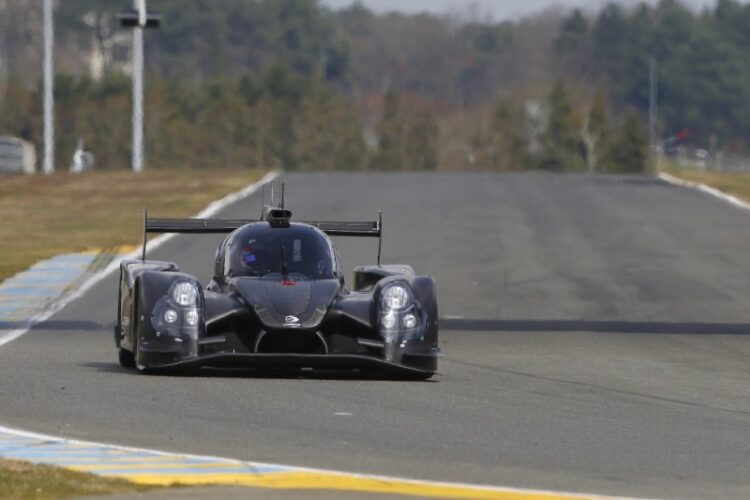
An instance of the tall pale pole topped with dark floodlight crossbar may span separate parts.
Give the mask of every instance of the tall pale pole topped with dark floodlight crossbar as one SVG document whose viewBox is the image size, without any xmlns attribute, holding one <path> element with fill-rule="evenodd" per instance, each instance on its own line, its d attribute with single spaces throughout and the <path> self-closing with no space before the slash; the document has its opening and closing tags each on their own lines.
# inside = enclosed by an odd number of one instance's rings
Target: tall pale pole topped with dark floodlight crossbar
<svg viewBox="0 0 750 500">
<path fill-rule="evenodd" d="M 133 28 L 133 172 L 143 171 L 143 29 L 158 28 L 159 16 L 149 15 L 146 0 L 133 0 L 134 10 L 120 14 L 120 24 Z"/>
</svg>

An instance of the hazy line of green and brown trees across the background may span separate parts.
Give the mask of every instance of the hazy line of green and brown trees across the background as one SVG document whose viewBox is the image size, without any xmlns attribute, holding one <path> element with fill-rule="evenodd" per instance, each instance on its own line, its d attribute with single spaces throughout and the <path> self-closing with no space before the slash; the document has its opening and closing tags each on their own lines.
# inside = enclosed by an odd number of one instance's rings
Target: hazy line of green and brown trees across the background
<svg viewBox="0 0 750 500">
<path fill-rule="evenodd" d="M 662 0 L 500 23 L 315 0 L 187 3 L 149 2 L 164 15 L 146 35 L 153 166 L 639 171 L 651 61 L 661 138 L 687 131 L 696 146 L 746 148 L 750 6 L 735 0 L 702 13 Z M 0 16 L 0 131 L 41 144 L 37 4 L 9 2 Z M 120 7 L 57 5 L 58 162 L 80 138 L 99 165 L 128 164 Z"/>
</svg>

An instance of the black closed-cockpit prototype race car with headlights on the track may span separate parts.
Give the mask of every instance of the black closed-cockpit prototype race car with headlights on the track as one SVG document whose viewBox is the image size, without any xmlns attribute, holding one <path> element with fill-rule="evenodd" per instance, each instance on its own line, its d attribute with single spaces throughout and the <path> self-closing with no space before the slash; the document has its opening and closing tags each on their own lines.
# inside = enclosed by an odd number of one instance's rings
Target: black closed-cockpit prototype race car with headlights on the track
<svg viewBox="0 0 750 500">
<path fill-rule="evenodd" d="M 374 222 L 292 222 L 144 216 L 141 260 L 120 265 L 115 344 L 120 364 L 160 372 L 192 367 L 358 370 L 427 379 L 437 370 L 435 280 L 380 265 Z M 176 264 L 146 260 L 147 233 L 229 233 L 203 287 Z M 331 236 L 377 237 L 378 264 L 344 282 Z"/>
</svg>

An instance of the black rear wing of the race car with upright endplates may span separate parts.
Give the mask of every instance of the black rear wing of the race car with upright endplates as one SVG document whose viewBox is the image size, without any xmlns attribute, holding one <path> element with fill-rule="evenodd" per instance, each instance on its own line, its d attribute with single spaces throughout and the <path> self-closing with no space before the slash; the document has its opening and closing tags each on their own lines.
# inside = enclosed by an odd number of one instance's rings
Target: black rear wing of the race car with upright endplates
<svg viewBox="0 0 750 500">
<path fill-rule="evenodd" d="M 291 213 L 289 213 L 291 216 Z M 143 211 L 143 255 L 146 260 L 146 243 L 149 233 L 180 234 L 224 234 L 235 229 L 260 222 L 257 219 L 162 219 L 151 218 Z M 356 236 L 378 238 L 378 265 L 383 243 L 383 213 L 378 212 L 378 220 L 365 222 L 350 221 L 299 221 L 316 227 L 329 236 Z"/>
</svg>

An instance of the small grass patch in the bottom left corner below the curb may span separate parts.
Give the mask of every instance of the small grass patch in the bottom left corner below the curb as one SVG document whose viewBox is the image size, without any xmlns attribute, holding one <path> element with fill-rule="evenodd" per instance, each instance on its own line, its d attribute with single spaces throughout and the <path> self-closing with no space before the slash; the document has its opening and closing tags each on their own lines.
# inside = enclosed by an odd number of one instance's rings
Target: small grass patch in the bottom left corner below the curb
<svg viewBox="0 0 750 500">
<path fill-rule="evenodd" d="M 122 479 L 112 479 L 47 465 L 0 459 L 0 498 L 45 500 L 84 495 L 107 495 L 153 490 Z"/>
</svg>

